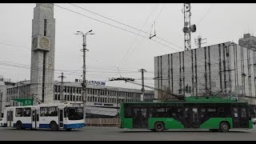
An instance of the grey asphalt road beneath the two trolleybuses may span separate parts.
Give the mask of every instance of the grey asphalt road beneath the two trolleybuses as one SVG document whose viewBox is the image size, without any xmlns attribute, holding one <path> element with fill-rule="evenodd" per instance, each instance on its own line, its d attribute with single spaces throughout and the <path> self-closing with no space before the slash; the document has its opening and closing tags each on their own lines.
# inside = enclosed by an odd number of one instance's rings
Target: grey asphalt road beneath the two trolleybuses
<svg viewBox="0 0 256 144">
<path fill-rule="evenodd" d="M 71 131 L 16 130 L 0 127 L 0 141 L 255 141 L 256 126 L 228 133 L 209 130 L 129 130 L 116 127 L 85 127 Z"/>
</svg>

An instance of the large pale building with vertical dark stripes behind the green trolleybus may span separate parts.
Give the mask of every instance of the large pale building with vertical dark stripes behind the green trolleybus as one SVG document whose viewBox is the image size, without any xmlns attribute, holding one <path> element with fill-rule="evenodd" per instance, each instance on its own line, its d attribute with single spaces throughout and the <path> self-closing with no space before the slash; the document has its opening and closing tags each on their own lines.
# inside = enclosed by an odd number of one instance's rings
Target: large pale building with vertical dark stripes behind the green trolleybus
<svg viewBox="0 0 256 144">
<path fill-rule="evenodd" d="M 240 94 L 255 98 L 255 70 L 253 49 L 225 42 L 155 57 L 154 86 L 187 96 Z M 186 86 L 190 93 L 185 92 Z M 154 93 L 155 98 L 164 96 Z"/>
</svg>

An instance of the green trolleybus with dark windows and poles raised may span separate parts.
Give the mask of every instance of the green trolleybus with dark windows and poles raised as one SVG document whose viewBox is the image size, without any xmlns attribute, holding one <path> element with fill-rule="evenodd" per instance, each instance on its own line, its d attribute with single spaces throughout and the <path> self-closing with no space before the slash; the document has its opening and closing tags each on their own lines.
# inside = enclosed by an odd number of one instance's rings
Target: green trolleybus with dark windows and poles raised
<svg viewBox="0 0 256 144">
<path fill-rule="evenodd" d="M 120 107 L 120 128 L 154 131 L 253 127 L 247 102 L 223 98 L 186 98 L 177 102 L 126 102 Z"/>
</svg>

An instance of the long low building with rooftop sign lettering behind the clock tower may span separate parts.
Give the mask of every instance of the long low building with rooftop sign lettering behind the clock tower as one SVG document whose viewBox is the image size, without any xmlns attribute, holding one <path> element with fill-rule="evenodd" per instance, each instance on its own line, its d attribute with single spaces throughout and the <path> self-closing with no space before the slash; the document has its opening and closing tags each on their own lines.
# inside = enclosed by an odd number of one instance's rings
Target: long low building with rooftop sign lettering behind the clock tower
<svg viewBox="0 0 256 144">
<path fill-rule="evenodd" d="M 86 86 L 86 118 L 113 118 L 118 114 L 121 102 L 140 102 L 141 90 L 106 86 L 105 82 L 87 82 Z M 31 98 L 30 81 L 17 82 L 6 90 L 6 106 L 20 106 L 13 98 Z M 51 102 L 82 102 L 81 82 L 54 81 L 54 97 Z M 153 102 L 154 90 L 146 90 L 144 102 Z"/>
</svg>

